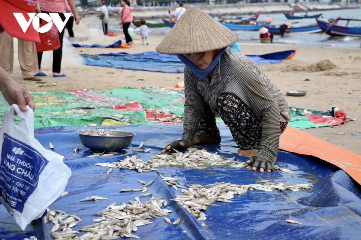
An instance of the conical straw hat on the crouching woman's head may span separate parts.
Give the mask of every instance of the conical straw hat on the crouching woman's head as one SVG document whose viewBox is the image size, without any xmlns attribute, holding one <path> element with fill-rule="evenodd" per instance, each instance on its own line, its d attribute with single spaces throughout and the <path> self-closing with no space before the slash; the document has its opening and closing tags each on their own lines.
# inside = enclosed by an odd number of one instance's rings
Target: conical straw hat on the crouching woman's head
<svg viewBox="0 0 361 240">
<path fill-rule="evenodd" d="M 190 6 L 156 51 L 164 54 L 201 53 L 230 46 L 236 41 L 236 33 L 196 6 Z"/>
</svg>

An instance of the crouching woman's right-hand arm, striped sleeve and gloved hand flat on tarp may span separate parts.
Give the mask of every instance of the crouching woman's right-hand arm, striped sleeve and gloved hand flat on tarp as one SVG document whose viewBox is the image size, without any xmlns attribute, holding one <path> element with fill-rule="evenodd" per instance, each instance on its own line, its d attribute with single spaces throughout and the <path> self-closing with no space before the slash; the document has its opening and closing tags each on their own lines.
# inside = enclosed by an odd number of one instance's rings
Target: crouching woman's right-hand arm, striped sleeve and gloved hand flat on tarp
<svg viewBox="0 0 361 240">
<path fill-rule="evenodd" d="M 249 160 L 257 169 L 274 170 L 274 163 L 278 155 L 280 124 L 280 111 L 277 103 L 252 67 L 243 67 L 235 72 L 228 88 L 242 88 L 240 95 L 248 99 L 248 107 L 255 112 L 256 116 L 262 118 L 260 147 L 257 154 Z"/>
</svg>

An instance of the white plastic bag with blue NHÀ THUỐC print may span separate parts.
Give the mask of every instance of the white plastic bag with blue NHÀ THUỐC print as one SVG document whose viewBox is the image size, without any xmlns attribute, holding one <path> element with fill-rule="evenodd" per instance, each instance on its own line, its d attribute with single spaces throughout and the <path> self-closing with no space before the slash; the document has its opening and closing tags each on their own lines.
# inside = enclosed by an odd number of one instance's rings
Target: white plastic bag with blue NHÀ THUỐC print
<svg viewBox="0 0 361 240">
<path fill-rule="evenodd" d="M 0 201 L 22 230 L 60 196 L 71 175 L 64 157 L 34 138 L 34 112 L 26 109 L 10 106 L 0 130 Z"/>
</svg>

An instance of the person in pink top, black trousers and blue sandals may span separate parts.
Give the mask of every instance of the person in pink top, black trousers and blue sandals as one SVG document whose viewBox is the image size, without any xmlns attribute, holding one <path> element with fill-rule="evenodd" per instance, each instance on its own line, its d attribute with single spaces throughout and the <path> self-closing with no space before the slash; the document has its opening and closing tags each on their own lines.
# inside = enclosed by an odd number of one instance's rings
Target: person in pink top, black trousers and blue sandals
<svg viewBox="0 0 361 240">
<path fill-rule="evenodd" d="M 65 21 L 65 1 L 66 0 L 39 0 L 40 10 L 42 13 L 58 13 L 61 21 Z M 75 0 L 67 0 L 69 6 L 74 14 L 75 24 L 80 23 L 80 18 L 75 8 Z M 63 37 L 64 37 L 64 28 L 59 32 L 59 41 L 60 47 L 56 50 L 53 50 L 53 77 L 66 77 L 65 73 L 61 73 L 61 58 L 63 54 Z M 39 69 L 41 68 L 43 58 L 43 52 L 38 53 L 38 64 Z"/>
</svg>

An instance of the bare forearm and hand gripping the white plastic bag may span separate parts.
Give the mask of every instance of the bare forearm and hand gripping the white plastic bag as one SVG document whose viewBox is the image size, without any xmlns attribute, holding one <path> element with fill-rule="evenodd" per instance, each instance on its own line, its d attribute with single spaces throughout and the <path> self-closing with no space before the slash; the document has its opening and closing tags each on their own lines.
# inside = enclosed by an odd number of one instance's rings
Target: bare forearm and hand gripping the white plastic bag
<svg viewBox="0 0 361 240">
<path fill-rule="evenodd" d="M 0 68 L 0 91 L 9 105 L 17 104 L 26 111 L 26 105 L 34 110 L 34 100 L 26 89 L 17 83 L 3 68 Z"/>
</svg>

